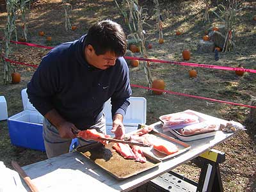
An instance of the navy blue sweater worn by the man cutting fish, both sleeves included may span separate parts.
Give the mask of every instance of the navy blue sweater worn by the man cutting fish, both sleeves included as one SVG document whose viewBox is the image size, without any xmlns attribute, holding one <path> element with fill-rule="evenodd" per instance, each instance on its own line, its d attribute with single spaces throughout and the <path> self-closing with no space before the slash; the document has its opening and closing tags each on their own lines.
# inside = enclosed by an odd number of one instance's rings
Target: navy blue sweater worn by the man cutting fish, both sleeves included
<svg viewBox="0 0 256 192">
<path fill-rule="evenodd" d="M 27 89 L 29 101 L 42 115 L 56 109 L 81 130 L 97 122 L 109 98 L 112 116 L 124 116 L 131 96 L 124 58 L 106 70 L 95 68 L 84 58 L 84 38 L 58 45 L 44 56 Z"/>
</svg>

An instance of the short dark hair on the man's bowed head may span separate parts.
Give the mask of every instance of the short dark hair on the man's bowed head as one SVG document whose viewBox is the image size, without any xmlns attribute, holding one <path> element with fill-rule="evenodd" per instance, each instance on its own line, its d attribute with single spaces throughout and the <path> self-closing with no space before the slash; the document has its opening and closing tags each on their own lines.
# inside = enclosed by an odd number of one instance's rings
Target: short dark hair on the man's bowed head
<svg viewBox="0 0 256 192">
<path fill-rule="evenodd" d="M 85 45 L 92 45 L 97 55 L 111 51 L 119 57 L 124 56 L 127 49 L 122 27 L 112 20 L 102 20 L 94 24 L 87 33 Z"/>
</svg>

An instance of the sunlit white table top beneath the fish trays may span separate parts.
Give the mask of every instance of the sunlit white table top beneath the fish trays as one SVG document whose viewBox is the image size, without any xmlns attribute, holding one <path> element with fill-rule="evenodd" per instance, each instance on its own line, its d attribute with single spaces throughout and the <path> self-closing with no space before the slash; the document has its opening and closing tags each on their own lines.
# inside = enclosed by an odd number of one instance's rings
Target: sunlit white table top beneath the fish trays
<svg viewBox="0 0 256 192">
<path fill-rule="evenodd" d="M 214 119 L 223 121 L 219 118 Z M 161 122 L 152 125 L 161 132 Z M 78 152 L 63 154 L 45 161 L 23 166 L 22 168 L 39 191 L 85 191 L 86 189 L 104 192 L 130 191 L 163 173 L 169 172 L 180 164 L 194 159 L 203 152 L 213 148 L 214 145 L 227 140 L 232 135 L 233 133 L 217 131 L 216 136 L 185 141 L 185 143 L 191 146 L 188 151 L 171 159 L 166 159 L 159 166 L 125 180 L 116 180 L 97 166 L 97 164 L 93 164 Z M 25 188 L 28 189 L 27 186 Z"/>
</svg>

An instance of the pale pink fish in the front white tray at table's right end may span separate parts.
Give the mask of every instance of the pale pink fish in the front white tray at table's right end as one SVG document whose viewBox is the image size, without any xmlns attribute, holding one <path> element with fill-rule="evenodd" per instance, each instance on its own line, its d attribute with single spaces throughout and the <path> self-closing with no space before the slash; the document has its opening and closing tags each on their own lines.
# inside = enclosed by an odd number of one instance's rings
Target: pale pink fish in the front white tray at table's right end
<svg viewBox="0 0 256 192">
<path fill-rule="evenodd" d="M 217 131 L 220 129 L 220 124 L 211 121 L 201 122 L 199 124 L 188 125 L 177 131 L 184 135 L 202 134 L 205 132 Z"/>
</svg>

